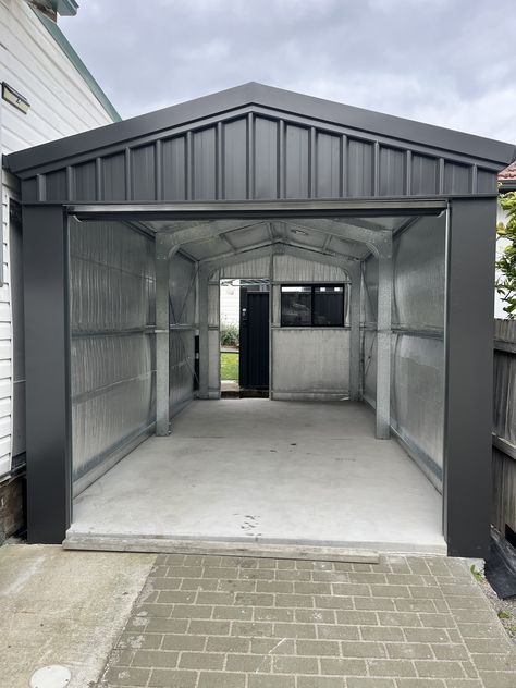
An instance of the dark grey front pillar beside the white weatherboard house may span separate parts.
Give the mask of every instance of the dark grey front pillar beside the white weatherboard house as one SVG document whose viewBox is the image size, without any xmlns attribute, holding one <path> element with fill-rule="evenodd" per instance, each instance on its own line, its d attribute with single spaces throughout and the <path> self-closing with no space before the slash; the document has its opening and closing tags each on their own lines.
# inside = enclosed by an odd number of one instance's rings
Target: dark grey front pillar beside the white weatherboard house
<svg viewBox="0 0 516 688">
<path fill-rule="evenodd" d="M 63 541 L 72 515 L 69 232 L 63 208 L 23 209 L 27 538 Z"/>
</svg>

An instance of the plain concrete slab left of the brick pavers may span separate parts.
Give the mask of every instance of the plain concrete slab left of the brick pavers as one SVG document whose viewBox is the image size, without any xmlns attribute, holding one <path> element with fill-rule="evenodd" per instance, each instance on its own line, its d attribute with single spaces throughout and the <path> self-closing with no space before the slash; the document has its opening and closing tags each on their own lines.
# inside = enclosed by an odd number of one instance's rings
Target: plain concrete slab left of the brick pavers
<svg viewBox="0 0 516 688">
<path fill-rule="evenodd" d="M 0 686 L 27 688 L 33 673 L 49 664 L 70 669 L 67 688 L 93 686 L 155 558 L 2 546 Z"/>
</svg>

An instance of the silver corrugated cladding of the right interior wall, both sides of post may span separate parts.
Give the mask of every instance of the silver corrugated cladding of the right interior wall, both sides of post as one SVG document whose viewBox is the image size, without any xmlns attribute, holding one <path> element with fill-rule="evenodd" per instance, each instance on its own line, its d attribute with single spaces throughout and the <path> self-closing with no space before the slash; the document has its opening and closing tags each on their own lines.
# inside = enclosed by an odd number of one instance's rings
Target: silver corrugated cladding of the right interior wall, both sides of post
<svg viewBox="0 0 516 688">
<path fill-rule="evenodd" d="M 444 430 L 445 219 L 421 218 L 394 237 L 391 422 L 434 483 Z M 376 397 L 378 261 L 366 262 L 364 395 Z"/>
</svg>

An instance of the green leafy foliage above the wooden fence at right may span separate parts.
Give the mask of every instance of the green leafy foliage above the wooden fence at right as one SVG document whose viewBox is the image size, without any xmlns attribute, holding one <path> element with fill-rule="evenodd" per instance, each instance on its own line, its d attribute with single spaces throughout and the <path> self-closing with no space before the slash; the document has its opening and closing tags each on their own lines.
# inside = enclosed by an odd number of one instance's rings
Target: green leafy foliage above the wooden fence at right
<svg viewBox="0 0 516 688">
<path fill-rule="evenodd" d="M 501 277 L 496 279 L 496 292 L 504 302 L 504 310 L 508 318 L 516 318 L 516 192 L 500 198 L 500 205 L 507 213 L 507 222 L 500 222 L 496 231 L 499 238 L 508 241 L 502 256 L 496 260 L 496 269 Z"/>
</svg>

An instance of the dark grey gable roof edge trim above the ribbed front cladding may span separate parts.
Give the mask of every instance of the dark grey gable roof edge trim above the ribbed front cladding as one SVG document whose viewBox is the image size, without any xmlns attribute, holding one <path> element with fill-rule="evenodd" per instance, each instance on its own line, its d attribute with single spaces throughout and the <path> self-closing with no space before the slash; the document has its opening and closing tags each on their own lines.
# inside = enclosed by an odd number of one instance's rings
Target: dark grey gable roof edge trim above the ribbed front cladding
<svg viewBox="0 0 516 688">
<path fill-rule="evenodd" d="M 452 153 L 496 171 L 516 158 L 515 146 L 511 144 L 249 83 L 15 152 L 8 157 L 8 163 L 12 172 L 29 177 L 45 169 L 57 169 L 63 164 L 74 164 L 78 159 L 106 155 L 107 149 L 120 149 L 136 145 L 138 139 L 159 137 L 160 132 L 173 127 L 251 107 L 346 127 L 352 133 L 388 139 L 391 145 L 398 142 L 405 148 L 416 145 L 433 150 L 435 155 L 439 151 Z"/>
</svg>

